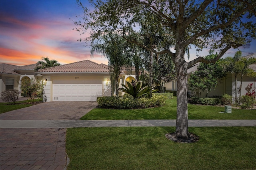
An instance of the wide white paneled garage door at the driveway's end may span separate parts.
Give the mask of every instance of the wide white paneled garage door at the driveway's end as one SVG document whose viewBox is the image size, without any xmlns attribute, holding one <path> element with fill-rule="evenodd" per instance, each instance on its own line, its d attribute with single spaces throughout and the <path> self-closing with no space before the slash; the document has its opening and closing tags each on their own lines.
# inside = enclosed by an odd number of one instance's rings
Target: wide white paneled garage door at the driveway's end
<svg viewBox="0 0 256 170">
<path fill-rule="evenodd" d="M 53 101 L 96 101 L 102 96 L 102 80 L 53 80 Z"/>
</svg>

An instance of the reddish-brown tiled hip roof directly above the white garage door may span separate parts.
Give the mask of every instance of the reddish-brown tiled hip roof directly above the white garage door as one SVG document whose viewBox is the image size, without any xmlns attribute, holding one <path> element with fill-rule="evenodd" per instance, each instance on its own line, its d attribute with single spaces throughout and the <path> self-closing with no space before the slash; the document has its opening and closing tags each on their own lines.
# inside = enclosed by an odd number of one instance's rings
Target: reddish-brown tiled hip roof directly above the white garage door
<svg viewBox="0 0 256 170">
<path fill-rule="evenodd" d="M 106 66 L 94 63 L 90 60 L 78 61 L 76 63 L 63 64 L 38 70 L 38 72 L 109 72 Z"/>
</svg>

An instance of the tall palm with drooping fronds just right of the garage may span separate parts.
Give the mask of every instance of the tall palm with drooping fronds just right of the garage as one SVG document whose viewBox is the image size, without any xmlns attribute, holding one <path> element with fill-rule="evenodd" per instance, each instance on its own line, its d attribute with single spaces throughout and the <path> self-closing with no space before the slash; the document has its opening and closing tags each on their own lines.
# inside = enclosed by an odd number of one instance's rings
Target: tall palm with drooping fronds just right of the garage
<svg viewBox="0 0 256 170">
<path fill-rule="evenodd" d="M 108 59 L 108 69 L 111 72 L 111 82 L 115 84 L 116 97 L 119 96 L 118 78 L 121 69 L 128 67 L 126 49 L 128 43 L 115 33 L 107 33 L 92 41 L 91 56 L 101 53 Z"/>
</svg>

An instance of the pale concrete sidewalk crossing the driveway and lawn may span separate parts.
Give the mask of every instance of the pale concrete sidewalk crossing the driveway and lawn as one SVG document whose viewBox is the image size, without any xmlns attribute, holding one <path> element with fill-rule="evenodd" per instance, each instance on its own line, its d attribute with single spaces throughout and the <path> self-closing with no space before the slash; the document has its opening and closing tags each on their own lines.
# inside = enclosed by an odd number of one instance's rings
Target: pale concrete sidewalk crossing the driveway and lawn
<svg viewBox="0 0 256 170">
<path fill-rule="evenodd" d="M 176 120 L 0 120 L 0 128 L 175 127 Z M 256 120 L 188 120 L 189 127 L 256 126 Z"/>
</svg>

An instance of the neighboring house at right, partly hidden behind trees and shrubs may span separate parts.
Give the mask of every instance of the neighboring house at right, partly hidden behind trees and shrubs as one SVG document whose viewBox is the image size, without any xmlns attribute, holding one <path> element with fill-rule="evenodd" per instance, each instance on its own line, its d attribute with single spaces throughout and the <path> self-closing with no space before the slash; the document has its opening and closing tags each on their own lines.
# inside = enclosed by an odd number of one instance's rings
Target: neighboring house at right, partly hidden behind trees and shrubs
<svg viewBox="0 0 256 170">
<path fill-rule="evenodd" d="M 255 58 L 256 54 L 252 55 L 247 55 L 244 56 L 245 58 Z M 188 69 L 188 76 L 194 72 L 197 68 L 199 63 L 195 64 L 192 68 Z M 252 64 L 249 66 L 249 68 L 252 68 L 254 72 L 256 72 L 256 64 Z M 237 93 L 238 93 L 238 98 L 239 98 L 239 89 L 240 89 L 240 76 L 238 75 L 237 77 Z M 247 75 L 243 76 L 243 81 L 242 81 L 242 96 L 246 94 L 245 87 L 249 84 L 252 83 L 253 89 L 256 89 L 256 78 L 254 77 L 249 77 Z M 235 98 L 235 76 L 231 72 L 227 73 L 227 76 L 222 78 L 220 82 L 218 82 L 217 87 L 215 90 L 212 90 L 211 92 L 208 92 L 208 96 L 221 96 L 222 94 L 229 94 L 233 98 Z M 197 97 L 204 98 L 206 96 L 206 91 L 198 90 Z"/>
</svg>

